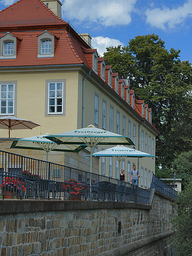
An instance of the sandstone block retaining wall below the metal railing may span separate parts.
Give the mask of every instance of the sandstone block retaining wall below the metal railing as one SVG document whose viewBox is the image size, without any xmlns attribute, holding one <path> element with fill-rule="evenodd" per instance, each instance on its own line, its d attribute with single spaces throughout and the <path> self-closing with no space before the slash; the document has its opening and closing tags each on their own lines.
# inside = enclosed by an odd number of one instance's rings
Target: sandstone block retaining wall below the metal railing
<svg viewBox="0 0 192 256">
<path fill-rule="evenodd" d="M 156 193 L 151 205 L 123 202 L 1 200 L 1 256 L 94 256 L 101 253 L 155 255 L 146 252 L 150 251 L 150 244 L 157 247 L 157 242 L 164 246 L 169 243 L 167 238 L 172 230 L 170 220 L 175 213 L 172 204 L 172 201 Z M 157 242 L 153 240 L 162 234 L 162 237 L 156 239 Z M 126 253 L 126 246 L 142 243 L 147 241 L 146 239 L 150 242 L 143 243 L 137 251 L 121 254 L 122 251 Z M 154 250 L 158 249 L 156 247 Z M 113 250 L 120 254 L 106 254 L 113 253 Z"/>
</svg>

